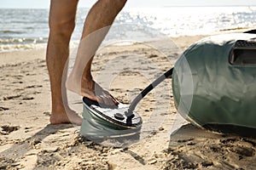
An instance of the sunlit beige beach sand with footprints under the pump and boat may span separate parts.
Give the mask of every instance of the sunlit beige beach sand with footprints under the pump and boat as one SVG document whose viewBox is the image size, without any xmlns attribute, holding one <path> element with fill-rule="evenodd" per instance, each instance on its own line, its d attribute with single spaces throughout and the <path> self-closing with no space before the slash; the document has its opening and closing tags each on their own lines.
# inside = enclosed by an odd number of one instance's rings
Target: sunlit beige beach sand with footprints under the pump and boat
<svg viewBox="0 0 256 170">
<path fill-rule="evenodd" d="M 103 47 L 93 74 L 128 104 L 183 49 L 203 36 Z M 148 94 L 137 112 L 154 130 L 135 144 L 109 147 L 79 135 L 79 126 L 50 125 L 50 88 L 45 49 L 0 54 L 0 169 L 254 169 L 256 139 L 212 133 L 183 122 L 175 133 L 177 110 L 168 80 Z M 125 62 L 124 62 L 125 61 Z M 71 59 L 71 64 L 73 58 Z M 112 73 L 106 81 L 104 73 Z M 105 75 L 105 76 L 101 76 Z M 110 75 L 111 76 L 111 75 Z M 82 111 L 79 96 L 70 105 Z M 154 115 L 156 114 L 156 115 Z M 153 119 L 150 116 L 157 117 Z M 172 135 L 171 135 L 172 133 Z"/>
</svg>

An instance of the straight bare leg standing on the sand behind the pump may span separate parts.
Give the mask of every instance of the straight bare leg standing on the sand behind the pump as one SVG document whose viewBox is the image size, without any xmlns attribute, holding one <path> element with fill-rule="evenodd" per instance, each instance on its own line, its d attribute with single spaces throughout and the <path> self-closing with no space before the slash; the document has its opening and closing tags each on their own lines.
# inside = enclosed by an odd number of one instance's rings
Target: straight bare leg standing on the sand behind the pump
<svg viewBox="0 0 256 170">
<path fill-rule="evenodd" d="M 78 0 L 51 0 L 49 11 L 49 42 L 47 47 L 47 66 L 51 86 L 52 124 L 72 122 L 81 124 L 82 118 L 67 106 L 67 77 L 64 71 L 69 55 L 69 42 L 75 26 Z M 62 77 L 64 80 L 62 80 Z M 65 106 L 66 105 L 66 106 Z"/>
</svg>

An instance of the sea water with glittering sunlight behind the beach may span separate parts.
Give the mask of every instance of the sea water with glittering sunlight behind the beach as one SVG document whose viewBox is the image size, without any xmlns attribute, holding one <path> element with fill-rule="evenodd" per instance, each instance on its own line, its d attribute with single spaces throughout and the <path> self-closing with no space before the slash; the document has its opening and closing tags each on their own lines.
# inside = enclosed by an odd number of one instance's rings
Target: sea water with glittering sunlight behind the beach
<svg viewBox="0 0 256 170">
<path fill-rule="evenodd" d="M 88 8 L 79 8 L 72 42 L 81 37 Z M 0 8 L 0 52 L 45 47 L 49 9 Z M 124 8 L 105 41 L 147 41 L 149 37 L 212 34 L 256 27 L 256 7 Z"/>
</svg>

